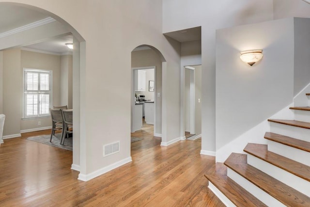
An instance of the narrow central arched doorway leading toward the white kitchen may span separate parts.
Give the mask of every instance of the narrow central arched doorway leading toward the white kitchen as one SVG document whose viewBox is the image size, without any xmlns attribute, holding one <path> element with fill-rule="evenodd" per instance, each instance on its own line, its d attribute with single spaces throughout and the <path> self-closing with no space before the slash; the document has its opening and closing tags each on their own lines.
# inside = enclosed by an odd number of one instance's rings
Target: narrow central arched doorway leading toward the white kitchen
<svg viewBox="0 0 310 207">
<path fill-rule="evenodd" d="M 164 125 L 162 119 L 162 71 L 166 70 L 165 63 L 161 52 L 150 45 L 140 45 L 131 52 L 131 132 L 141 130 L 144 123 L 154 126 L 153 136 L 166 139 L 162 127 Z M 146 74 L 152 74 L 151 71 L 153 71 L 153 77 L 150 78 L 150 75 Z M 139 84 L 141 80 L 142 87 Z M 144 100 L 147 101 L 144 102 Z"/>
</svg>

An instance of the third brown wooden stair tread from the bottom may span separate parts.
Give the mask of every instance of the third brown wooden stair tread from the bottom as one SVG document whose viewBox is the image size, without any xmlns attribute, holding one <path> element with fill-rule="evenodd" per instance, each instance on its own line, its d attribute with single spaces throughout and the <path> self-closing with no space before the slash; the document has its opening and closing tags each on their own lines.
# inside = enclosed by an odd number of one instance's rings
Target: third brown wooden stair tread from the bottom
<svg viewBox="0 0 310 207">
<path fill-rule="evenodd" d="M 310 166 L 268 151 L 265 144 L 248 143 L 244 151 L 302 179 L 310 181 Z"/>
</svg>

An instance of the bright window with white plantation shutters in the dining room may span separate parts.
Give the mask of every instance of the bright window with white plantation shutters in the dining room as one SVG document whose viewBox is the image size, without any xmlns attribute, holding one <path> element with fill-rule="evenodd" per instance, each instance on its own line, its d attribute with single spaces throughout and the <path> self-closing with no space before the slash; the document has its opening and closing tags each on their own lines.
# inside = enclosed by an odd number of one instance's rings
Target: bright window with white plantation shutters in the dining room
<svg viewBox="0 0 310 207">
<path fill-rule="evenodd" d="M 24 118 L 49 115 L 52 71 L 24 68 Z"/>
</svg>

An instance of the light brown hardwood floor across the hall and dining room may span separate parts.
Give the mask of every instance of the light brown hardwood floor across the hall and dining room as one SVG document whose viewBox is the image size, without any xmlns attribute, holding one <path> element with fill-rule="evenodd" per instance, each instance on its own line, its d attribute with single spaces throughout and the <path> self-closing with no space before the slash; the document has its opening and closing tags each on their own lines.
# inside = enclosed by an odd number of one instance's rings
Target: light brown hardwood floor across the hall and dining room
<svg viewBox="0 0 310 207">
<path fill-rule="evenodd" d="M 0 147 L 0 206 L 222 207 L 203 176 L 215 162 L 200 155 L 201 140 L 168 147 L 144 125 L 132 136 L 133 161 L 88 182 L 71 170 L 72 152 L 26 140 L 50 130 L 22 134 Z"/>
</svg>

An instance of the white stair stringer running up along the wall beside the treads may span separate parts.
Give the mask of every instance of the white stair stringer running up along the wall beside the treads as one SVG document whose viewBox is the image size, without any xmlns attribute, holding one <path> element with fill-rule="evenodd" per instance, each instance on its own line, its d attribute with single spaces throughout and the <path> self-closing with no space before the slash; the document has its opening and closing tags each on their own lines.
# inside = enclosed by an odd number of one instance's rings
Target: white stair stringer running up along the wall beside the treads
<svg viewBox="0 0 310 207">
<path fill-rule="evenodd" d="M 281 119 L 293 119 L 294 112 L 289 108 L 293 106 L 293 102 L 286 106 L 285 108 L 281 109 L 270 118 L 279 118 Z M 260 124 L 252 127 L 230 143 L 225 144 L 221 148 L 216 151 L 216 162 L 224 162 L 230 154 L 234 153 L 241 153 L 244 154 L 243 149 L 248 143 L 260 143 L 260 144 L 267 144 L 267 140 L 264 139 L 264 134 L 266 131 L 270 131 L 270 124 L 267 121 L 268 119 L 264 120 Z"/>
</svg>

